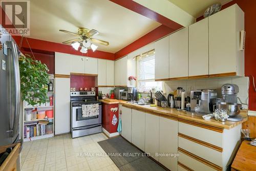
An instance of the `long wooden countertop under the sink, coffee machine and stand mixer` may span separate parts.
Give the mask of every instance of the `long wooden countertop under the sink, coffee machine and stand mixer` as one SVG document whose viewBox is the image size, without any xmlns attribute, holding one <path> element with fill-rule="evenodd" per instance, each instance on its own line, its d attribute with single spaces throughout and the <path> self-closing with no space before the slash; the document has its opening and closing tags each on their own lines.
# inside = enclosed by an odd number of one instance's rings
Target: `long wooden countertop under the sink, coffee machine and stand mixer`
<svg viewBox="0 0 256 171">
<path fill-rule="evenodd" d="M 244 117 L 242 121 L 239 122 L 232 122 L 232 121 L 217 121 L 215 118 L 211 118 L 209 120 L 204 120 L 202 116 L 198 115 L 189 115 L 186 114 L 186 112 L 177 111 L 176 109 L 170 109 L 170 108 L 161 108 L 159 106 L 150 106 L 150 105 L 137 105 L 137 104 L 131 104 L 127 103 L 126 101 L 121 101 L 123 106 L 126 106 L 128 108 L 133 108 L 142 112 L 147 113 L 153 113 L 158 114 L 159 116 L 163 117 L 169 117 L 173 119 L 177 119 L 180 121 L 188 121 L 188 122 L 196 122 L 199 124 L 217 127 L 219 129 L 231 129 L 232 127 L 235 127 L 245 121 L 247 121 L 247 111 L 242 111 L 240 114 Z"/>
</svg>

